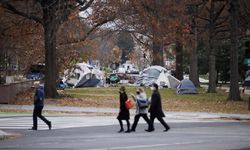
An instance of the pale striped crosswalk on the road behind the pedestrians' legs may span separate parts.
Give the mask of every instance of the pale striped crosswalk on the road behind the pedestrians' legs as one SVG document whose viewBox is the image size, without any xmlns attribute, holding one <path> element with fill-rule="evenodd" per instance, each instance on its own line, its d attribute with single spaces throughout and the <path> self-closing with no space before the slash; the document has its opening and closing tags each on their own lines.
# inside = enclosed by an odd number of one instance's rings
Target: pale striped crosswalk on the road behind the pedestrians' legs
<svg viewBox="0 0 250 150">
<path fill-rule="evenodd" d="M 74 127 L 90 127 L 118 125 L 116 116 L 49 116 L 46 118 L 52 121 L 52 129 L 74 128 Z M 168 120 L 167 122 L 206 122 L 198 120 Z M 133 118 L 131 118 L 133 122 Z M 158 123 L 158 121 L 155 121 Z M 143 119 L 139 123 L 145 124 Z M 28 129 L 32 126 L 32 116 L 27 117 L 0 117 L 0 129 Z M 47 125 L 38 118 L 38 129 L 47 130 Z"/>
</svg>

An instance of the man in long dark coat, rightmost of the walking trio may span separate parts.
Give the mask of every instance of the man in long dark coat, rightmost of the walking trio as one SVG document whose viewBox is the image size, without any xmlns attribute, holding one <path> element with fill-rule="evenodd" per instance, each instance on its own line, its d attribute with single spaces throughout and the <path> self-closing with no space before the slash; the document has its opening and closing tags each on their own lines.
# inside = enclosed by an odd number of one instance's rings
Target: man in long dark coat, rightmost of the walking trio
<svg viewBox="0 0 250 150">
<path fill-rule="evenodd" d="M 164 132 L 166 132 L 170 129 L 170 127 L 163 120 L 163 117 L 165 117 L 165 115 L 164 112 L 162 111 L 161 95 L 158 91 L 158 85 L 156 83 L 153 83 L 153 86 L 151 88 L 153 90 L 151 96 L 151 105 L 149 108 L 151 127 L 149 127 L 149 129 L 147 129 L 146 131 L 148 132 L 154 131 L 154 120 L 155 118 L 157 118 L 160 121 L 160 123 L 165 127 Z"/>
</svg>

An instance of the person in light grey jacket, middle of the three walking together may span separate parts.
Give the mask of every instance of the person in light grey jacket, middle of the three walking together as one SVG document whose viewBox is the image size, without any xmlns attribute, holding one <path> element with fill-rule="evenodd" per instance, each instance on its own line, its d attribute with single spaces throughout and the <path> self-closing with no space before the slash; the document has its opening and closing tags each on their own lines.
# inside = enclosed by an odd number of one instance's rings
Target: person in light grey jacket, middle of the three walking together
<svg viewBox="0 0 250 150">
<path fill-rule="evenodd" d="M 147 105 L 148 105 L 148 100 L 147 100 L 147 95 L 146 93 L 144 92 L 143 88 L 138 88 L 137 91 L 136 91 L 136 96 L 134 97 L 132 95 L 135 103 L 136 103 L 136 115 L 134 117 L 134 123 L 132 125 L 132 128 L 131 128 L 131 132 L 135 132 L 136 131 L 136 126 L 138 124 L 138 121 L 140 119 L 140 117 L 143 117 L 143 119 L 147 122 L 148 124 L 148 128 L 151 129 L 152 128 L 152 124 L 147 116 L 147 112 L 148 112 L 148 109 L 147 109 Z M 145 106 L 140 106 L 140 101 L 142 101 L 143 103 L 145 103 Z"/>
</svg>

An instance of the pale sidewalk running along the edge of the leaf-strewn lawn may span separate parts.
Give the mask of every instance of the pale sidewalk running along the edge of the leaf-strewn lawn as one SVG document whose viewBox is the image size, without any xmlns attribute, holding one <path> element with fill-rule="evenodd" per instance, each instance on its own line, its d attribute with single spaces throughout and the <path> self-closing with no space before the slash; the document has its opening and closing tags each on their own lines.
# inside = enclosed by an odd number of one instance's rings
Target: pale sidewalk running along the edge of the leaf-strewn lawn
<svg viewBox="0 0 250 150">
<path fill-rule="evenodd" d="M 33 110 L 33 105 L 8 105 L 0 104 L 0 109 L 7 110 Z M 46 105 L 45 111 L 59 111 L 71 113 L 111 113 L 117 115 L 119 109 L 115 108 L 96 108 L 96 107 L 69 107 L 69 106 L 52 106 Z M 131 115 L 135 110 L 130 111 Z M 224 113 L 207 113 L 207 112 L 165 112 L 169 119 L 250 119 L 250 114 L 224 114 Z M 1 116 L 0 116 L 1 117 Z"/>
</svg>

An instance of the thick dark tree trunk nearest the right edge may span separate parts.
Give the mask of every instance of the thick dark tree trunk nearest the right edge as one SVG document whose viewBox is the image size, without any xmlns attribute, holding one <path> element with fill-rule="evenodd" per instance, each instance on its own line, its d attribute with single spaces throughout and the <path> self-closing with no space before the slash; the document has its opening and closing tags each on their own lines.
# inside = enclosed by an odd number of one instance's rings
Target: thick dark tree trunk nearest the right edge
<svg viewBox="0 0 250 150">
<path fill-rule="evenodd" d="M 230 28 L 231 28 L 231 48 L 230 48 L 230 91 L 228 100 L 241 100 L 239 91 L 238 72 L 238 0 L 230 0 Z"/>
</svg>

